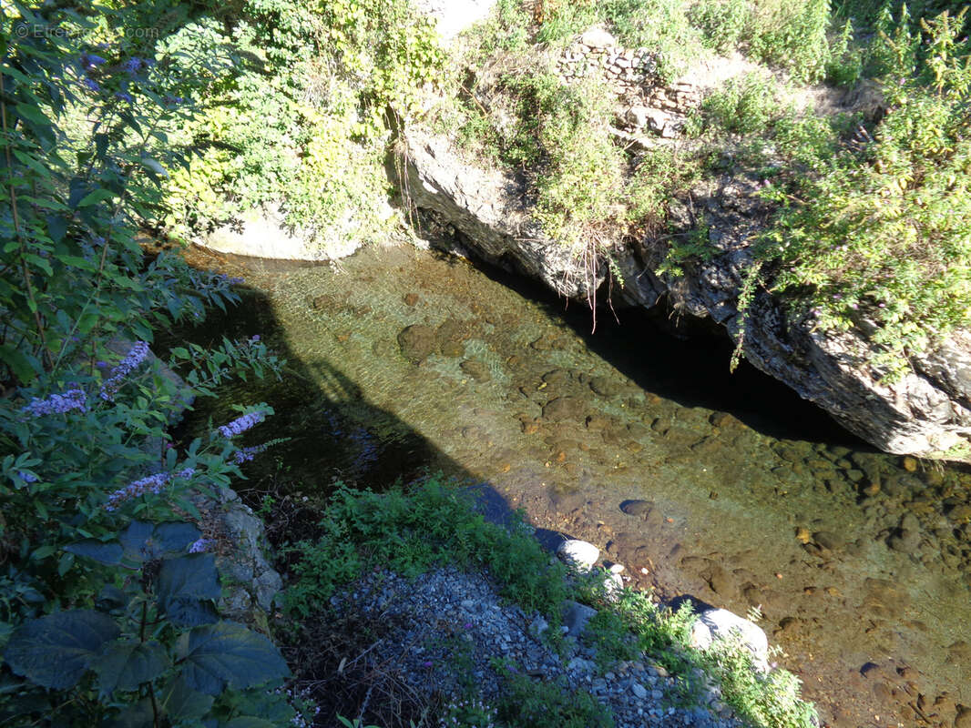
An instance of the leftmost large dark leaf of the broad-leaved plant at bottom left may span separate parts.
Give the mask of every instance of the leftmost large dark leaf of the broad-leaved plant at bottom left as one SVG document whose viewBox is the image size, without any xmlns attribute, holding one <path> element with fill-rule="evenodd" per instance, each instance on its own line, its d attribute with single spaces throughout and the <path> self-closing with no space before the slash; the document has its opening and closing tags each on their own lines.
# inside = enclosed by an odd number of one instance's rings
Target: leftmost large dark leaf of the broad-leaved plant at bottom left
<svg viewBox="0 0 971 728">
<path fill-rule="evenodd" d="M 115 620 L 101 612 L 56 612 L 22 624 L 3 656 L 17 675 L 63 689 L 77 684 L 119 632 Z"/>
</svg>

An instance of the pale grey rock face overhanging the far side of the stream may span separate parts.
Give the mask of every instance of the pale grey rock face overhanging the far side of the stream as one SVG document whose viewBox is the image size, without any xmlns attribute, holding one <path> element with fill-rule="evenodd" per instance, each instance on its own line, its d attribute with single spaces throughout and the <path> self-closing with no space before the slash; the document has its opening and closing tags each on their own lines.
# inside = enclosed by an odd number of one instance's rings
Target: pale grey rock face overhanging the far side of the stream
<svg viewBox="0 0 971 728">
<path fill-rule="evenodd" d="M 411 134 L 403 149 L 412 201 L 452 226 L 472 255 L 571 298 L 586 299 L 604 280 L 605 267 L 587 271 L 570 250 L 544 238 L 515 177 L 470 166 L 438 137 Z M 684 276 L 659 278 L 654 271 L 665 245 L 644 240 L 619 250 L 619 297 L 644 308 L 665 300 L 680 312 L 716 321 L 737 341 L 739 291 L 753 262 L 749 240 L 769 212 L 754 196 L 756 187 L 745 176 L 724 176 L 694 190 L 690 207 L 676 204 L 676 225 L 688 229 L 704 218 L 715 254 L 686 268 Z M 862 328 L 822 331 L 812 316 L 793 316 L 759 291 L 745 321 L 743 348 L 755 367 L 876 447 L 971 460 L 971 334 L 959 333 L 915 356 L 912 372 L 887 383 L 868 363 L 874 347 Z"/>
</svg>

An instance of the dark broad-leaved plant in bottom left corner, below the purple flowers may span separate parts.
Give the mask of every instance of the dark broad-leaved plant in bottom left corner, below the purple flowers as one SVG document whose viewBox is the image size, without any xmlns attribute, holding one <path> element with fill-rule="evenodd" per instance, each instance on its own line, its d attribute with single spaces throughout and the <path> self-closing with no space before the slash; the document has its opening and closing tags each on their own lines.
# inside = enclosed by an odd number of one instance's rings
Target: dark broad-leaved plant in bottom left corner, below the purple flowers
<svg viewBox="0 0 971 728">
<path fill-rule="evenodd" d="M 279 695 L 251 690 L 285 678 L 286 664 L 262 635 L 218 620 L 215 560 L 208 553 L 185 553 L 199 536 L 187 523 L 132 521 L 100 551 L 75 549 L 132 574 L 120 579 L 121 588 L 109 582 L 93 600 L 94 610 L 53 612 L 14 631 L 4 659 L 25 678 L 18 687 L 34 696 L 35 710 L 52 710 L 45 717 L 59 725 L 124 721 L 135 714 L 144 715 L 140 724 L 152 726 L 293 716 Z M 37 687 L 69 691 L 71 700 Z"/>
</svg>

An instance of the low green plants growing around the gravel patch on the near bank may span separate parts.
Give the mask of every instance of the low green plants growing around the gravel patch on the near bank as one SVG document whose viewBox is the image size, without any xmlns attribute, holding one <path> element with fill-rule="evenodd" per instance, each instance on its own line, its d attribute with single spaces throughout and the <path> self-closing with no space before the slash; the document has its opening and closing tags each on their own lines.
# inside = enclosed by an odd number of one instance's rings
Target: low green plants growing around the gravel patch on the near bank
<svg viewBox="0 0 971 728">
<path fill-rule="evenodd" d="M 357 645 L 338 646 L 324 659 L 328 665 L 340 663 L 340 671 L 349 671 L 349 676 L 353 673 L 349 677 L 352 689 L 344 694 L 346 703 L 340 709 L 343 714 L 361 715 L 360 703 L 355 701 L 380 690 L 404 701 L 401 711 L 432 721 L 422 724 L 434 724 L 434 715 L 441 713 L 491 716 L 495 725 L 510 727 L 613 725 L 609 711 L 586 692 L 530 678 L 510 660 L 494 664 L 503 680 L 503 699 L 492 707 L 473 704 L 481 696 L 476 680 L 465 674 L 472 665 L 467 655 L 469 645 L 457 634 L 450 637 L 436 632 L 437 639 L 454 641 L 454 648 L 448 651 L 453 655 L 451 669 L 456 682 L 465 686 L 460 698 L 440 696 L 436 702 L 426 697 L 414 702 L 414 694 L 402 687 L 393 666 L 361 672 L 356 660 L 354 664 L 348 659 L 341 661 L 341 655 L 347 658 L 362 650 L 366 653 L 366 645 L 384 639 L 391 625 L 355 616 L 359 611 L 353 609 L 339 616 L 332 610 L 332 597 L 358 588 L 351 586 L 355 579 L 376 567 L 420 579 L 430 569 L 454 564 L 485 570 L 511 602 L 526 613 L 545 614 L 551 624 L 546 635 L 561 654 L 569 651 L 563 640 L 557 639 L 564 601 L 579 599 L 596 606 L 599 612 L 583 639 L 595 648 L 601 672 L 618 662 L 647 655 L 667 669 L 686 705 L 697 700 L 699 675 L 704 674 L 721 685 L 723 700 L 755 726 L 813 725 L 812 707 L 799 699 L 798 680 L 788 673 L 755 673 L 751 655 L 739 645 L 707 653 L 689 648 L 695 618 L 690 605 L 671 611 L 654 604 L 649 596 L 630 590 L 624 590 L 616 602 L 608 599 L 596 579 L 571 574 L 551 560 L 521 520 L 509 527 L 487 522 L 466 496 L 441 480 L 426 480 L 407 490 L 396 488 L 383 494 L 342 485 L 332 495 L 320 529 L 317 540 L 305 540 L 287 549 L 296 560 L 289 567 L 293 579 L 286 591 L 285 611 L 290 642 L 298 649 L 307 649 L 299 645 L 345 645 L 348 640 Z M 336 677 L 331 667 L 327 679 L 333 682 Z M 333 695 L 341 688 L 328 682 L 327 690 Z M 401 721 L 394 725 L 399 723 L 406 725 Z"/>
</svg>

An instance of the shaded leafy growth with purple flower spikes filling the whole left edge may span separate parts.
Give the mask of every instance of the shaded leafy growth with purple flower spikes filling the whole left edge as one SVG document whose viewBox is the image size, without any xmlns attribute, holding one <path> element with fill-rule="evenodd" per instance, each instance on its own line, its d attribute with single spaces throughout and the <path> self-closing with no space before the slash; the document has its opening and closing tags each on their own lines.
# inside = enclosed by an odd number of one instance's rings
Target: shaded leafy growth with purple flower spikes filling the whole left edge
<svg viewBox="0 0 971 728">
<path fill-rule="evenodd" d="M 87 45 L 109 30 L 41 4 L 0 19 L 0 647 L 23 676 L 5 671 L 0 720 L 272 717 L 279 711 L 261 697 L 266 710 L 251 710 L 247 690 L 285 666 L 263 638 L 218 623 L 212 557 L 184 555 L 198 531 L 175 522 L 198 518 L 192 490 L 239 474 L 248 450 L 234 438 L 272 413 L 239 408 L 207 444 L 171 447 L 167 428 L 190 397 L 149 347 L 156 327 L 238 301 L 239 281 L 193 271 L 177 255 L 146 256 L 136 237 L 166 166 L 182 158 L 169 132 L 192 114 L 165 84 L 191 93 L 224 65 L 188 69 L 126 57 L 129 44 Z M 258 336 L 176 347 L 170 363 L 191 396 L 281 367 Z M 250 645 L 267 670 L 216 670 L 200 697 L 173 665 L 193 662 L 201 642 L 217 662 L 218 645 Z M 223 692 L 223 678 L 243 689 Z"/>
</svg>

